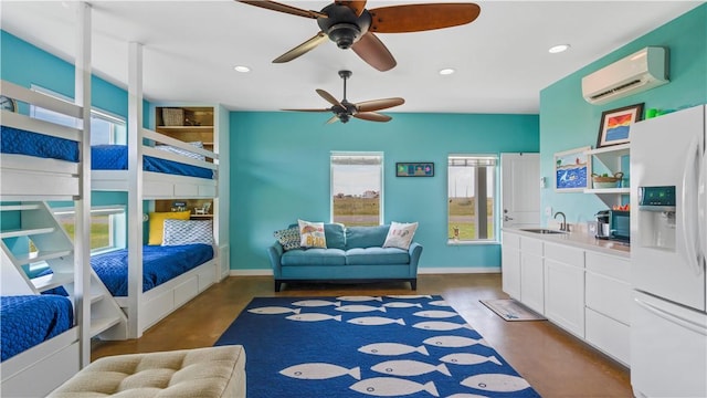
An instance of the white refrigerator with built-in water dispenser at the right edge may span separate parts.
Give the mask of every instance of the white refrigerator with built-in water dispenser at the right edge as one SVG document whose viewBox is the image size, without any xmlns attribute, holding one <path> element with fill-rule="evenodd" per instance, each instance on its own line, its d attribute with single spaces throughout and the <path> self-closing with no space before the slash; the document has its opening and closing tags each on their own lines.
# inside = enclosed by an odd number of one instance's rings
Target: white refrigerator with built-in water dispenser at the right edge
<svg viewBox="0 0 707 398">
<path fill-rule="evenodd" d="M 705 105 L 631 126 L 631 385 L 707 397 Z"/>
</svg>

